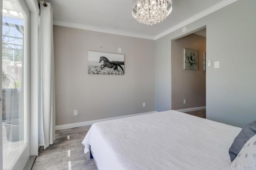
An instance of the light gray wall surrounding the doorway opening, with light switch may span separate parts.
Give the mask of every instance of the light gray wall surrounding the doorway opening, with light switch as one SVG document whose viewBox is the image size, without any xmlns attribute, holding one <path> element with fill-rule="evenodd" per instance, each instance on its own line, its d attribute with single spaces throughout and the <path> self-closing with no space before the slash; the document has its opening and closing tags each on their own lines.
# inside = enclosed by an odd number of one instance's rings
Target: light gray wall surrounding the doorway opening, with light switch
<svg viewBox="0 0 256 170">
<path fill-rule="evenodd" d="M 207 119 L 242 127 L 256 120 L 255 0 L 238 0 L 188 25 L 190 31 L 207 27 Z M 189 34 L 191 32 L 188 32 Z M 156 111 L 171 109 L 171 40 L 182 36 L 178 29 L 155 45 Z"/>
</svg>

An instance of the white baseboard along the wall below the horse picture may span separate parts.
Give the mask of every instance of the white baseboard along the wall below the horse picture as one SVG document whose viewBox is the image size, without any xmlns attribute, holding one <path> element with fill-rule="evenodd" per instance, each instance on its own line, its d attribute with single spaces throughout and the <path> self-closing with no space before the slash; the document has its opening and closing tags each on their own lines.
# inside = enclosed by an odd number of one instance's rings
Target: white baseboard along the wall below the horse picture
<svg viewBox="0 0 256 170">
<path fill-rule="evenodd" d="M 145 114 L 149 114 L 149 113 L 156 113 L 156 111 L 150 111 L 150 112 L 138 113 L 138 114 L 132 114 L 132 115 L 124 115 L 124 116 L 118 116 L 118 117 L 110 117 L 110 118 L 106 118 L 106 119 L 84 121 L 84 122 L 79 122 L 79 123 L 70 123 L 70 124 L 66 124 L 66 125 L 57 125 L 57 126 L 55 126 L 55 131 L 59 131 L 59 130 L 63 130 L 63 129 L 71 129 L 71 128 L 75 128 L 75 127 L 88 126 L 88 125 L 92 125 L 93 123 L 100 122 L 100 121 L 120 119 L 120 118 L 132 117 L 132 116 L 138 116 L 138 115 L 145 115 Z"/>
</svg>

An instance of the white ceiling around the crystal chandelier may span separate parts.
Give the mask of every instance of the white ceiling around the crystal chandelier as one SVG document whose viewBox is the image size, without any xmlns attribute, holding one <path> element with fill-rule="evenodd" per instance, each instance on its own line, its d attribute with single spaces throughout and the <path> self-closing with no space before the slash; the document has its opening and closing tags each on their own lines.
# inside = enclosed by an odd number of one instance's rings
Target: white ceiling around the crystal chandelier
<svg viewBox="0 0 256 170">
<path fill-rule="evenodd" d="M 47 0 L 52 4 L 55 25 L 148 39 L 157 39 L 192 16 L 202 17 L 202 13 L 207 15 L 230 1 L 235 0 L 173 0 L 172 13 L 166 20 L 145 25 L 133 18 L 132 0 Z"/>
</svg>

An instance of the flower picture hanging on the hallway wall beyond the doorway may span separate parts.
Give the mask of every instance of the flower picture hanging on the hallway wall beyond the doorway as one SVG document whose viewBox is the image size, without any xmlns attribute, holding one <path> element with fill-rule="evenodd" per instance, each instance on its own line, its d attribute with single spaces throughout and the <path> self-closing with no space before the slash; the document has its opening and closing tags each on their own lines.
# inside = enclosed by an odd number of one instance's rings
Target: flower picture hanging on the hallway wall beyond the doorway
<svg viewBox="0 0 256 170">
<path fill-rule="evenodd" d="M 184 49 L 184 69 L 198 70 L 198 51 Z"/>
</svg>

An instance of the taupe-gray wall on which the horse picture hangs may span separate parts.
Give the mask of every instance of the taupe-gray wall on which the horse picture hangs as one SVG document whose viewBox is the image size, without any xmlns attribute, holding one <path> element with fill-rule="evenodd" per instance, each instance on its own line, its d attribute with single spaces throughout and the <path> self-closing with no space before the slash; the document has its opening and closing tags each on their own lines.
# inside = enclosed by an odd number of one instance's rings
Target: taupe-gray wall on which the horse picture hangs
<svg viewBox="0 0 256 170">
<path fill-rule="evenodd" d="M 87 73 L 88 51 L 118 53 L 118 47 L 124 76 Z M 155 110 L 153 40 L 54 25 L 54 61 L 56 125 Z"/>
</svg>

